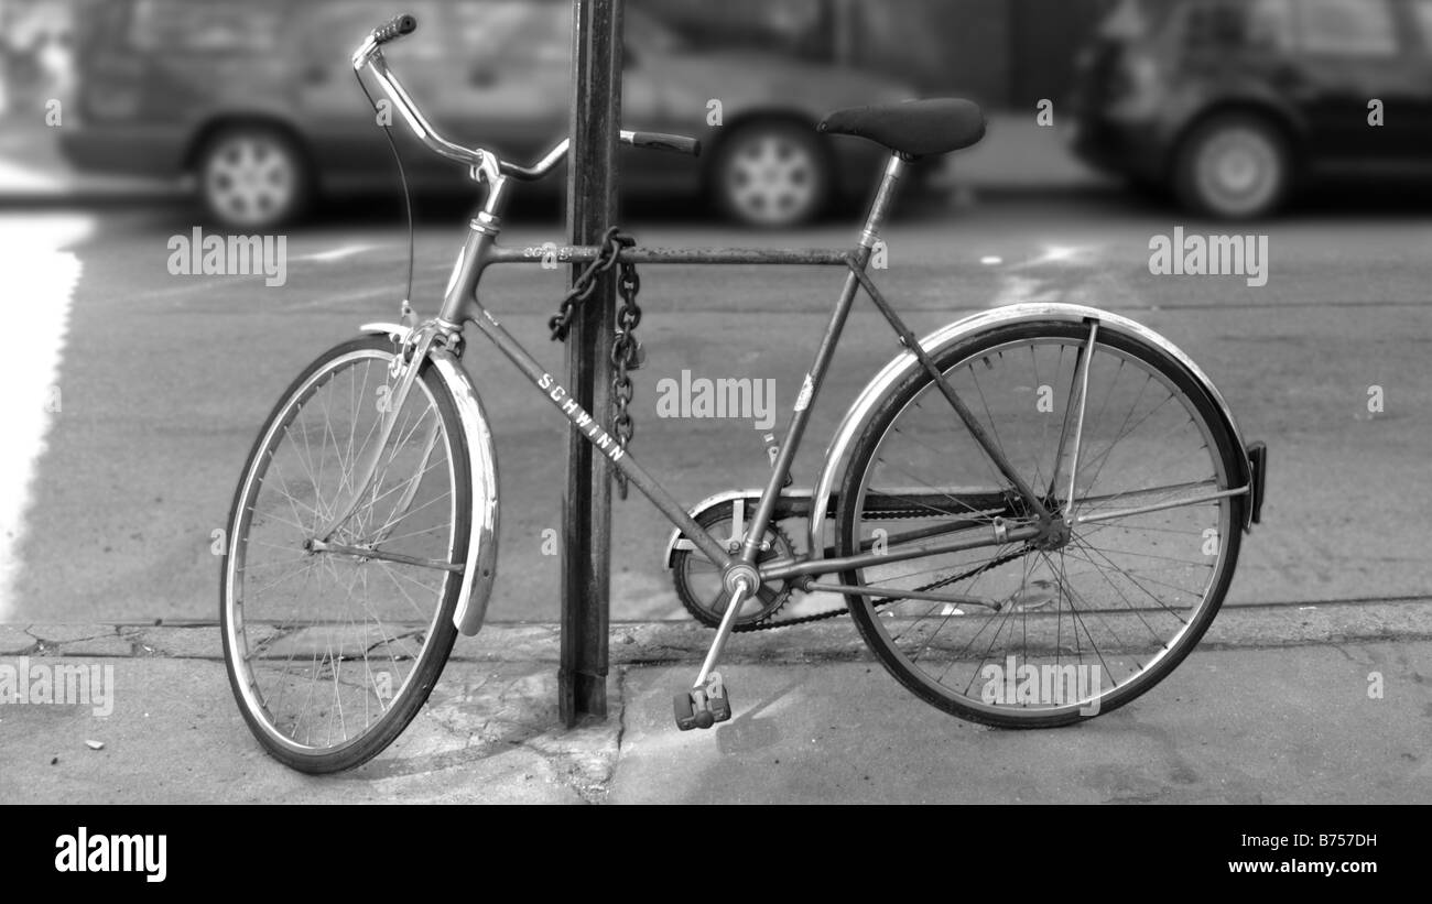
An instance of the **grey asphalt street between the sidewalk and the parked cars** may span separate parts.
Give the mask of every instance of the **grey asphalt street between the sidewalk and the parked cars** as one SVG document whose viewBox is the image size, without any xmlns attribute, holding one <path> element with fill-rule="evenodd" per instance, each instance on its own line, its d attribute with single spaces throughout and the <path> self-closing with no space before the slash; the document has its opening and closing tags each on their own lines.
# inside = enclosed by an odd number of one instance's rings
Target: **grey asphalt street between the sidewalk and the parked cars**
<svg viewBox="0 0 1432 904">
<path fill-rule="evenodd" d="M 435 310 L 463 212 L 424 220 L 415 303 Z M 182 209 L 0 213 L 0 263 L 20 390 L 11 406 L 0 526 L 0 622 L 166 622 L 218 616 L 213 531 L 259 423 L 318 352 L 395 318 L 405 242 L 391 222 L 328 217 L 288 235 L 284 286 L 263 276 L 175 276 Z M 1402 210 L 1305 212 L 1269 237 L 1269 279 L 1156 276 L 1150 239 L 1230 232 L 1123 196 L 1005 199 L 931 209 L 888 230 L 876 275 L 916 332 L 1018 300 L 1123 313 L 1164 333 L 1213 378 L 1272 456 L 1264 524 L 1243 545 L 1227 605 L 1426 596 L 1432 586 L 1432 227 Z M 649 245 L 846 246 L 853 229 L 778 236 L 654 216 Z M 1242 232 L 1242 230 L 1240 230 Z M 561 240 L 518 222 L 510 245 Z M 553 372 L 546 320 L 561 273 L 494 270 L 484 300 Z M 662 419 L 656 383 L 773 379 L 782 412 L 800 386 L 841 276 L 812 269 L 647 267 L 636 375 L 636 452 L 683 501 L 759 485 L 765 432 L 750 421 Z M 465 363 L 495 422 L 503 529 L 490 618 L 554 619 L 564 422 L 471 336 Z M 858 309 L 821 396 L 796 481 L 861 386 L 898 350 Z M 1378 389 L 1375 389 L 1378 388 Z M 1369 399 L 1382 411 L 1369 411 Z M 40 416 L 34 411 L 43 411 Z M 780 423 L 778 423 L 778 431 Z M 613 616 L 682 614 L 662 566 L 669 528 L 642 501 L 617 509 Z"/>
</svg>

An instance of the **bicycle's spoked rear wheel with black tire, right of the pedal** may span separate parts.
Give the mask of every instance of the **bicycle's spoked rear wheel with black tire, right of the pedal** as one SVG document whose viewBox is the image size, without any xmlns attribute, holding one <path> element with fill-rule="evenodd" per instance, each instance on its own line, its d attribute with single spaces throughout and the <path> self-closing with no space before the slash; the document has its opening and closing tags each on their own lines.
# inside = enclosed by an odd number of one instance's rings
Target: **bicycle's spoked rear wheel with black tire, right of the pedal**
<svg viewBox="0 0 1432 904">
<path fill-rule="evenodd" d="M 935 356 L 1067 536 L 1010 539 L 1037 518 L 925 370 L 885 396 L 851 455 L 839 555 L 969 541 L 842 584 L 882 588 L 846 601 L 885 668 L 971 721 L 1063 725 L 1134 699 L 1193 649 L 1233 576 L 1246 502 L 1219 493 L 1237 489 L 1242 452 L 1214 398 L 1140 336 L 1088 338 L 1020 323 Z"/>
</svg>

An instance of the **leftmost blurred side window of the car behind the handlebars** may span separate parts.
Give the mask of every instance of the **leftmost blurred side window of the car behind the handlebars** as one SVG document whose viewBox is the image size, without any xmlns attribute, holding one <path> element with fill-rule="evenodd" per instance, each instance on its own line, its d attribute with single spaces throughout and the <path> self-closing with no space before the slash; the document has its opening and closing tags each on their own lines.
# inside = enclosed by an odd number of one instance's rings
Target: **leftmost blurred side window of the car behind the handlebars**
<svg viewBox="0 0 1432 904">
<path fill-rule="evenodd" d="M 281 26 L 276 3 L 139 0 L 129 21 L 129 43 L 153 51 L 263 50 L 278 40 Z"/>
</svg>

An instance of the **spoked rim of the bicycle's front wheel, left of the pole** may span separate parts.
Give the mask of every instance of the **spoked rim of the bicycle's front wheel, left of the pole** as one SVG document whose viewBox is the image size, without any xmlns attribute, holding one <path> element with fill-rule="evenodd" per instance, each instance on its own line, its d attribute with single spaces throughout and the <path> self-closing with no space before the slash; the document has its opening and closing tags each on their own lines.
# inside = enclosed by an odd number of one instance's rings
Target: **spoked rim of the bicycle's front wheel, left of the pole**
<svg viewBox="0 0 1432 904">
<path fill-rule="evenodd" d="M 238 691 L 263 735 L 302 757 L 355 745 L 420 691 L 412 678 L 458 581 L 302 545 L 351 491 L 392 390 L 391 360 L 377 349 L 342 355 L 291 396 L 231 524 L 226 631 Z M 379 462 L 365 503 L 332 542 L 460 561 L 451 438 L 424 380 L 412 383 Z"/>
</svg>

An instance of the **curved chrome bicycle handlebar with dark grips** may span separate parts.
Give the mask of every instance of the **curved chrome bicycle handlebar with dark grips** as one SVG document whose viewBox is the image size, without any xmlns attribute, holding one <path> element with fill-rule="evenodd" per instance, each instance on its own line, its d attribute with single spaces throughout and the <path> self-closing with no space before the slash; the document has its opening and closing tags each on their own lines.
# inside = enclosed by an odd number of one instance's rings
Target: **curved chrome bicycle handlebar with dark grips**
<svg viewBox="0 0 1432 904">
<path fill-rule="evenodd" d="M 571 146 L 570 139 L 558 142 L 556 147 L 548 150 L 531 166 L 520 166 L 517 163 L 501 160 L 497 154 L 483 150 L 481 147 L 463 147 L 461 144 L 450 142 L 438 134 L 437 129 L 434 129 L 432 124 L 422 116 L 422 112 L 418 110 L 412 97 L 410 97 L 404 90 L 398 77 L 388 69 L 388 62 L 379 50 L 388 41 L 412 34 L 417 27 L 418 20 L 412 16 L 395 16 L 390 21 L 372 30 L 372 33 L 354 53 L 352 64 L 354 72 L 359 73 L 359 76 L 364 70 L 372 73 L 374 80 L 382 89 L 384 94 L 388 96 L 388 100 L 391 100 L 392 106 L 398 109 L 398 113 L 424 146 L 442 157 L 464 163 L 475 170 L 487 172 L 488 167 L 495 167 L 497 173 L 511 176 L 513 179 L 518 179 L 521 182 L 534 182 L 541 179 L 567 157 L 567 150 Z M 702 153 L 702 143 L 697 139 L 680 134 L 623 130 L 619 137 L 623 144 L 644 147 L 647 150 L 666 150 L 690 154 L 693 157 L 700 156 Z"/>
</svg>

